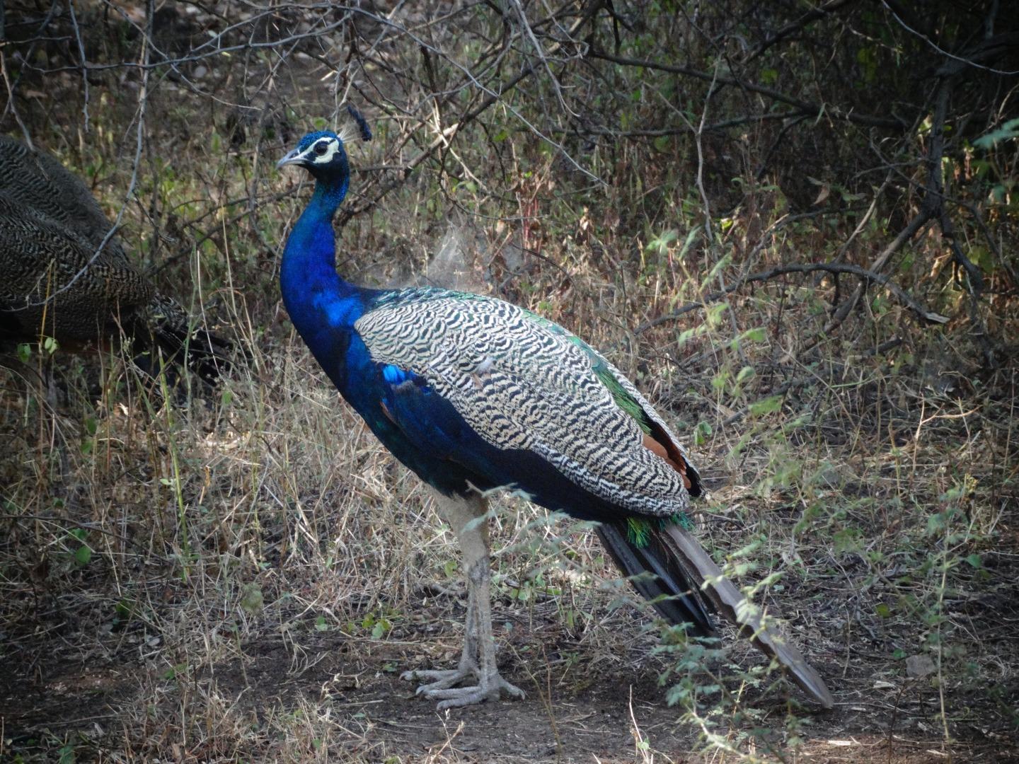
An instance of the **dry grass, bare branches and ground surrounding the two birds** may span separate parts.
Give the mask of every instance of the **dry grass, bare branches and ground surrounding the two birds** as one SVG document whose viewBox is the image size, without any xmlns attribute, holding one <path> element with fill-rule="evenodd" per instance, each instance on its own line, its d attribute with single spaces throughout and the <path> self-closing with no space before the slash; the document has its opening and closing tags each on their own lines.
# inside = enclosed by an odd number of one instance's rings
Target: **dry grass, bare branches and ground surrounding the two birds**
<svg viewBox="0 0 1019 764">
<path fill-rule="evenodd" d="M 252 348 L 184 402 L 0 370 L 0 759 L 1009 759 L 1019 13 L 998 2 L 0 2 L 5 133 Z M 340 270 L 532 308 L 674 422 L 698 533 L 838 706 L 659 640 L 569 523 L 495 520 L 502 662 L 448 715 L 447 529 L 279 303 L 276 160 L 344 104 Z M 622 605 L 622 606 L 621 606 Z M 725 652 L 721 648 L 728 646 Z"/>
</svg>

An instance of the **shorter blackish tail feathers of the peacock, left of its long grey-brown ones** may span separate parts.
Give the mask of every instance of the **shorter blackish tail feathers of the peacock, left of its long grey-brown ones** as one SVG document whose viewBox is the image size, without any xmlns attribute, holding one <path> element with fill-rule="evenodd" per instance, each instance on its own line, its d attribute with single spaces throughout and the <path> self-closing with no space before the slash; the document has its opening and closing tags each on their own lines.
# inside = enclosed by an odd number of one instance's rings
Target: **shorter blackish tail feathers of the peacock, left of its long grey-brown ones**
<svg viewBox="0 0 1019 764">
<path fill-rule="evenodd" d="M 634 544 L 625 523 L 597 528 L 601 543 L 619 568 L 644 599 L 669 623 L 687 623 L 692 636 L 714 634 L 711 616 L 695 584 L 699 579 L 683 567 L 681 558 L 654 538 L 644 546 Z"/>
</svg>

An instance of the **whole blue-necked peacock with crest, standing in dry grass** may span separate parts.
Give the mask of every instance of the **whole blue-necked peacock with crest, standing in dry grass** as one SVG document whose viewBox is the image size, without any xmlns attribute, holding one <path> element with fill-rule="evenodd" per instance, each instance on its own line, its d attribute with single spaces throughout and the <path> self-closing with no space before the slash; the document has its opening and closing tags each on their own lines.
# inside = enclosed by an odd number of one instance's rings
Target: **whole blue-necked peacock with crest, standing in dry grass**
<svg viewBox="0 0 1019 764">
<path fill-rule="evenodd" d="M 370 140 L 350 111 L 355 134 Z M 280 265 L 290 320 L 383 445 L 434 489 L 463 552 L 463 653 L 455 668 L 406 672 L 425 680 L 418 694 L 439 709 L 524 695 L 499 674 L 492 637 L 487 497 L 502 487 L 600 524 L 605 549 L 663 618 L 707 636 L 717 611 L 814 701 L 833 705 L 823 679 L 691 535 L 686 510 L 703 492 L 700 473 L 619 369 L 557 324 L 500 299 L 343 280 L 332 219 L 351 179 L 344 140 L 310 132 L 278 163 L 286 165 L 315 179 Z"/>
</svg>

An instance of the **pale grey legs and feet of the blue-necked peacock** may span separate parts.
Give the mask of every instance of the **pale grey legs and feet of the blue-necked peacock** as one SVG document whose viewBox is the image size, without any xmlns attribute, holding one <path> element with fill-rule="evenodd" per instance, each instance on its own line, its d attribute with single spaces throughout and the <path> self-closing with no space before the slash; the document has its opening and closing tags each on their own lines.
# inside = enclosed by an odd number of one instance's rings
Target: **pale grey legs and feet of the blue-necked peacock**
<svg viewBox="0 0 1019 764">
<path fill-rule="evenodd" d="M 407 671 L 405 679 L 432 679 L 418 694 L 438 700 L 438 708 L 454 708 L 498 700 L 500 692 L 523 698 L 524 693 L 499 675 L 492 637 L 491 560 L 488 522 L 483 520 L 488 502 L 480 494 L 465 499 L 438 497 L 438 511 L 460 540 L 467 572 L 467 625 L 460 665 L 445 671 Z M 478 684 L 457 688 L 472 678 Z"/>
</svg>

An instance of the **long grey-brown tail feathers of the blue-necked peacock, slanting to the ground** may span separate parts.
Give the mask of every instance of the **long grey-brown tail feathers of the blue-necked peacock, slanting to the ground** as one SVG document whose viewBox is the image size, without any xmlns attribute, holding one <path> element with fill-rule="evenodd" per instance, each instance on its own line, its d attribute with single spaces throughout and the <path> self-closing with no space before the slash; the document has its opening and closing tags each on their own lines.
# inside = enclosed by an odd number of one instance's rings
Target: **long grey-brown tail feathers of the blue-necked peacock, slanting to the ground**
<svg viewBox="0 0 1019 764">
<path fill-rule="evenodd" d="M 765 655 L 777 660 L 789 671 L 793 681 L 817 703 L 824 708 L 835 705 L 832 693 L 813 666 L 773 622 L 764 623 L 761 620 L 759 610 L 747 601 L 733 582 L 722 576 L 714 560 L 693 536 L 675 525 L 655 531 L 654 536 L 682 560 L 684 568 L 696 571 L 697 580 L 702 582 L 701 591 L 722 617 L 739 626 L 741 635 L 750 639 Z"/>
</svg>

